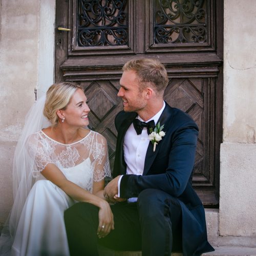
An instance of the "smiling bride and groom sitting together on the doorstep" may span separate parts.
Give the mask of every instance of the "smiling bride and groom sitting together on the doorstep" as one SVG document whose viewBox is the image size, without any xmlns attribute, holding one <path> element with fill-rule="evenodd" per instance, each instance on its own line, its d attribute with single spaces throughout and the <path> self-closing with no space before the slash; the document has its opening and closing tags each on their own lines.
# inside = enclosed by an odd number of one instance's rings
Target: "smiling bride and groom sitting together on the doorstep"
<svg viewBox="0 0 256 256">
<path fill-rule="evenodd" d="M 163 100 L 167 84 L 159 61 L 125 63 L 114 179 L 105 187 L 108 147 L 103 136 L 84 129 L 86 95 L 69 82 L 49 88 L 32 107 L 17 144 L 15 200 L 1 253 L 93 256 L 98 243 L 143 255 L 214 250 L 191 185 L 198 127 Z"/>
</svg>

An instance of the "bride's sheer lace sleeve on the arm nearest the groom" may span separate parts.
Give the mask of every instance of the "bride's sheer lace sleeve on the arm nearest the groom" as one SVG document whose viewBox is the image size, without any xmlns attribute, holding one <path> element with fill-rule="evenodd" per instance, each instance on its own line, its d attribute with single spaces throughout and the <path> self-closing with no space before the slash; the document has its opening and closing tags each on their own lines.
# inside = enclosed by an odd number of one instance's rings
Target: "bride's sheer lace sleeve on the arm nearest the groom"
<svg viewBox="0 0 256 256">
<path fill-rule="evenodd" d="M 98 182 L 103 180 L 105 177 L 111 178 L 108 144 L 106 139 L 98 133 L 93 141 L 92 157 L 95 162 L 93 181 Z"/>
</svg>

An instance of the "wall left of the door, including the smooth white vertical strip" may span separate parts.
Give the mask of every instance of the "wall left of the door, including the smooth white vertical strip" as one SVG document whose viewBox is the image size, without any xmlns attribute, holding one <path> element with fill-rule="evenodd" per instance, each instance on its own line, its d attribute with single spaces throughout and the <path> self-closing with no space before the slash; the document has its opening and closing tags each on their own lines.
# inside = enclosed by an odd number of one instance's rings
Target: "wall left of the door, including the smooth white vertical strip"
<svg viewBox="0 0 256 256">
<path fill-rule="evenodd" d="M 0 0 L 0 229 L 12 205 L 12 160 L 24 118 L 53 83 L 55 0 Z M 50 47 L 49 47 L 50 46 Z"/>
</svg>

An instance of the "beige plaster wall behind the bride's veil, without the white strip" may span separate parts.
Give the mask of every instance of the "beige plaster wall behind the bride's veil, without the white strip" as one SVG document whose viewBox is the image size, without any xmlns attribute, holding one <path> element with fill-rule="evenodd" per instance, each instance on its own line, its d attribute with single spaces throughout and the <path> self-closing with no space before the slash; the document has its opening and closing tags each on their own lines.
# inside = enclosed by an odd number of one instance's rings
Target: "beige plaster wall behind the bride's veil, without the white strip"
<svg viewBox="0 0 256 256">
<path fill-rule="evenodd" d="M 12 158 L 34 101 L 39 0 L 2 0 L 0 37 L 0 223 L 12 204 Z"/>
</svg>

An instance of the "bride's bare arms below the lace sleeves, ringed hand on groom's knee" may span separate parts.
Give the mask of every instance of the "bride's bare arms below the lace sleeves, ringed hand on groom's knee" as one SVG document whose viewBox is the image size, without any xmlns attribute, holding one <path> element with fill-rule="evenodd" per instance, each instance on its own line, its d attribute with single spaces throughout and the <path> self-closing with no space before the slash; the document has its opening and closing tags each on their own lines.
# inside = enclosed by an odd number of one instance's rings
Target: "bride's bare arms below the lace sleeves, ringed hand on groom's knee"
<svg viewBox="0 0 256 256">
<path fill-rule="evenodd" d="M 65 191 L 73 199 L 79 202 L 87 202 L 91 203 L 97 207 L 99 207 L 99 225 L 98 225 L 98 236 L 104 237 L 106 236 L 111 229 L 114 229 L 114 218 L 108 202 L 104 199 L 91 194 L 89 191 L 81 188 L 75 183 L 67 180 L 65 175 L 61 172 L 61 170 L 52 163 L 46 165 L 45 169 L 41 172 L 42 175 L 51 182 L 53 182 L 56 186 Z M 96 194 L 99 193 L 100 190 L 103 191 L 104 180 L 97 182 Z M 99 193 L 100 194 L 100 193 Z M 103 195 L 103 193 L 102 193 Z M 103 227 L 104 226 L 104 227 Z"/>
</svg>

